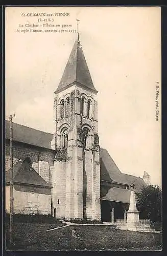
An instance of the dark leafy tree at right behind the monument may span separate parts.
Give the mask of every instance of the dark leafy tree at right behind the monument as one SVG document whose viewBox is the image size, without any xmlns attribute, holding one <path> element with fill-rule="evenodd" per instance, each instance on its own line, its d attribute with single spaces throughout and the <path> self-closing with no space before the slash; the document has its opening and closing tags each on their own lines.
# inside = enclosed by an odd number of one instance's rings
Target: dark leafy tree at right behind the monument
<svg viewBox="0 0 167 256">
<path fill-rule="evenodd" d="M 153 222 L 161 222 L 162 192 L 158 185 L 148 185 L 137 193 L 137 209 L 140 219 L 150 219 Z"/>
</svg>

